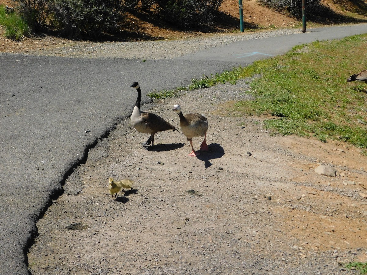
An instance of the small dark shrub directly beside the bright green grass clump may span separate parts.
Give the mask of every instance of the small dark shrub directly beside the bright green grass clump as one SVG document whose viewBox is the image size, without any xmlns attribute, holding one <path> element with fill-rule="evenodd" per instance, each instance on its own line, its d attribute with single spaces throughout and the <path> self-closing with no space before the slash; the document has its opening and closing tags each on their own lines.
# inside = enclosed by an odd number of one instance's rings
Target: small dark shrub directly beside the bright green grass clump
<svg viewBox="0 0 367 275">
<path fill-rule="evenodd" d="M 19 14 L 33 31 L 40 30 L 48 17 L 48 0 L 15 0 Z"/>
</svg>

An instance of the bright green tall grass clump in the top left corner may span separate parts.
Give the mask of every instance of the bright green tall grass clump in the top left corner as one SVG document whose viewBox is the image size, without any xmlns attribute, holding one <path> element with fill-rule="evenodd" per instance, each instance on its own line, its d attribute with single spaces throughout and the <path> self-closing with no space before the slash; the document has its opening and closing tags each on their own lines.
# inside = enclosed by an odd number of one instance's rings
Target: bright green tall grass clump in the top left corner
<svg viewBox="0 0 367 275">
<path fill-rule="evenodd" d="M 0 6 L 0 25 L 5 27 L 5 37 L 21 41 L 23 36 L 29 36 L 28 24 L 16 13 L 7 12 L 5 6 Z"/>
</svg>

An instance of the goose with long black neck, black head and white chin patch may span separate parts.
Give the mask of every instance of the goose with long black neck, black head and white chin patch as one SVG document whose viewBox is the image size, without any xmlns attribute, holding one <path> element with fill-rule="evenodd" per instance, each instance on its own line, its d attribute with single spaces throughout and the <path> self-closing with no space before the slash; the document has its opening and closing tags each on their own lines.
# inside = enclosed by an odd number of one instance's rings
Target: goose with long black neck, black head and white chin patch
<svg viewBox="0 0 367 275">
<path fill-rule="evenodd" d="M 134 110 L 131 114 L 131 124 L 134 126 L 137 131 L 141 133 L 148 133 L 150 134 L 149 139 L 146 143 L 143 144 L 149 145 L 150 142 L 152 142 L 152 148 L 154 146 L 154 135 L 157 132 L 161 131 L 177 131 L 179 132 L 175 126 L 165 121 L 163 118 L 161 118 L 159 115 L 152 114 L 152 113 L 146 113 L 142 112 L 140 110 L 140 101 L 141 101 L 141 89 L 139 87 L 139 83 L 136 81 L 130 85 L 130 87 L 137 89 L 138 91 L 138 98 L 137 102 L 135 103 Z"/>
</svg>

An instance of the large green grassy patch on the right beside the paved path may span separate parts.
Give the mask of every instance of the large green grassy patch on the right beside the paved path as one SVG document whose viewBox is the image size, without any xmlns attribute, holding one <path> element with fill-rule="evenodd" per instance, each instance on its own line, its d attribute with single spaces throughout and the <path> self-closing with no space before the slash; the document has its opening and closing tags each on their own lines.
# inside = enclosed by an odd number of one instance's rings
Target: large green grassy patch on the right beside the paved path
<svg viewBox="0 0 367 275">
<path fill-rule="evenodd" d="M 367 34 L 299 45 L 283 56 L 254 62 L 215 76 L 192 80 L 190 89 L 217 83 L 251 81 L 255 100 L 238 101 L 233 115 L 266 116 L 264 125 L 283 135 L 313 136 L 327 142 L 342 140 L 367 148 L 367 85 L 346 78 L 367 69 Z M 228 110 L 226 111 L 228 113 Z"/>
</svg>

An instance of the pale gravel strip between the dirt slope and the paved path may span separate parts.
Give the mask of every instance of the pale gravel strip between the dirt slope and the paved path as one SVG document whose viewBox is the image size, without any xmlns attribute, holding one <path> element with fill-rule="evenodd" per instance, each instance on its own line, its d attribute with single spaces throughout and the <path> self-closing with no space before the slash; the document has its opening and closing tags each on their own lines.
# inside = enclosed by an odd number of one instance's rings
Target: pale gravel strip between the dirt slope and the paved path
<svg viewBox="0 0 367 275">
<path fill-rule="evenodd" d="M 235 41 L 261 39 L 299 33 L 299 29 L 278 29 L 253 33 L 215 34 L 193 37 L 185 40 L 155 40 L 129 42 L 88 42 L 60 40 L 46 37 L 39 43 L 18 43 L 12 52 L 28 55 L 63 56 L 71 58 L 134 58 L 171 59 L 187 53 L 225 45 Z M 0 48 L 1 50 L 1 48 Z"/>
</svg>

